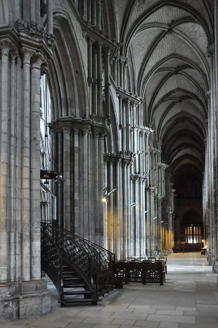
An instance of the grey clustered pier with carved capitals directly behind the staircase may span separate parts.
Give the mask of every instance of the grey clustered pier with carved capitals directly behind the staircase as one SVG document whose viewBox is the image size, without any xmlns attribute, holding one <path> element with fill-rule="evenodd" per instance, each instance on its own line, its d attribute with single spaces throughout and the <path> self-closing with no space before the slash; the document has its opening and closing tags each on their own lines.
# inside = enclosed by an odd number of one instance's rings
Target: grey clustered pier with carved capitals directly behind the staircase
<svg viewBox="0 0 218 328">
<path fill-rule="evenodd" d="M 65 182 L 54 185 L 59 223 L 103 245 L 103 140 L 107 120 L 60 118 L 49 124 L 55 165 Z"/>
</svg>

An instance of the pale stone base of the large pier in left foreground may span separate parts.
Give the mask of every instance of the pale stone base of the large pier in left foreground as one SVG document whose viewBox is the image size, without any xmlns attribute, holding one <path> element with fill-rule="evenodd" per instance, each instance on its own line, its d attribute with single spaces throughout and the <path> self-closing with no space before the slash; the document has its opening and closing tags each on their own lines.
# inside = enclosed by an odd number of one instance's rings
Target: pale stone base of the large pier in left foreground
<svg viewBox="0 0 218 328">
<path fill-rule="evenodd" d="M 0 321 L 39 317 L 49 311 L 46 280 L 0 283 Z"/>
</svg>

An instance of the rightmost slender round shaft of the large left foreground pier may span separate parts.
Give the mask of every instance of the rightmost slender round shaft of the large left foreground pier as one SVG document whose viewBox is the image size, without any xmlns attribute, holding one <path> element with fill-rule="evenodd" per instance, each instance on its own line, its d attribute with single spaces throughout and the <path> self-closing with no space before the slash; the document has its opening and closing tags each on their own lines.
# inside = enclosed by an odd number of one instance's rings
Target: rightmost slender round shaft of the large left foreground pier
<svg viewBox="0 0 218 328">
<path fill-rule="evenodd" d="M 31 278 L 41 278 L 40 257 L 40 76 L 44 59 L 39 55 L 31 63 L 31 110 L 30 110 L 30 260 Z"/>
</svg>

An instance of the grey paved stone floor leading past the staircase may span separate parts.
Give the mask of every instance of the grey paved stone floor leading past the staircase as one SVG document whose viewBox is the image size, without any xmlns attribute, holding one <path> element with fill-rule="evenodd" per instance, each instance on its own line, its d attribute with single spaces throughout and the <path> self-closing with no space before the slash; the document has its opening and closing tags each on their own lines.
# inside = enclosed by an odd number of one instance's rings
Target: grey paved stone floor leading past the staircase
<svg viewBox="0 0 218 328">
<path fill-rule="evenodd" d="M 217 328 L 217 274 L 197 253 L 168 256 L 164 286 L 132 283 L 115 289 L 97 306 L 59 307 L 50 286 L 50 314 L 3 322 L 0 328 Z"/>
</svg>

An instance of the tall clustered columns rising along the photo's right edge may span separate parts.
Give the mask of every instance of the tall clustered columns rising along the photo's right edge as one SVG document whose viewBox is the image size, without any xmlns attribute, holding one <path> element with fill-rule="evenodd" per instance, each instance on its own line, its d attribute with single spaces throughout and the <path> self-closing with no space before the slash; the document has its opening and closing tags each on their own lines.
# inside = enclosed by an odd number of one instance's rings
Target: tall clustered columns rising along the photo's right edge
<svg viewBox="0 0 218 328">
<path fill-rule="evenodd" d="M 218 5 L 215 1 L 215 43 L 209 47 L 210 55 L 210 91 L 208 99 L 208 121 L 206 122 L 206 165 L 203 187 L 204 240 L 207 243 L 208 260 L 213 271 L 218 272 L 218 230 L 217 230 L 217 105 L 218 105 Z"/>
</svg>

